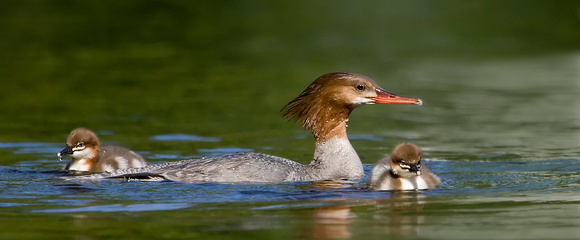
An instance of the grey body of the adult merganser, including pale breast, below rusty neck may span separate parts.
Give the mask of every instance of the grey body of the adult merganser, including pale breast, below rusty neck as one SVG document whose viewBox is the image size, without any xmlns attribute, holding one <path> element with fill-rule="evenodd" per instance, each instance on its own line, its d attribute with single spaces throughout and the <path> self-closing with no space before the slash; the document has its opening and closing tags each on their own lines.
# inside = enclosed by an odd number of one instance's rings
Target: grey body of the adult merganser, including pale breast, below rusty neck
<svg viewBox="0 0 580 240">
<path fill-rule="evenodd" d="M 119 169 L 78 178 L 128 178 L 181 182 L 276 183 L 326 179 L 358 179 L 362 163 L 347 139 L 332 138 L 316 147 L 310 164 L 300 164 L 264 153 L 234 153 L 220 157 L 182 160 Z"/>
</svg>

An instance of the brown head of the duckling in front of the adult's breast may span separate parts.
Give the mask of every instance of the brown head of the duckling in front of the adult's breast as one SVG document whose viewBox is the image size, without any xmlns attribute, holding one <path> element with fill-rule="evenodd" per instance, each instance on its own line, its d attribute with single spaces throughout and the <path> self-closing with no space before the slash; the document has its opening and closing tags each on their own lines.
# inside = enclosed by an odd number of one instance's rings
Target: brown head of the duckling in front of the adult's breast
<svg viewBox="0 0 580 240">
<path fill-rule="evenodd" d="M 421 149 L 412 143 L 401 143 L 391 153 L 394 174 L 410 177 L 421 175 Z"/>
</svg>

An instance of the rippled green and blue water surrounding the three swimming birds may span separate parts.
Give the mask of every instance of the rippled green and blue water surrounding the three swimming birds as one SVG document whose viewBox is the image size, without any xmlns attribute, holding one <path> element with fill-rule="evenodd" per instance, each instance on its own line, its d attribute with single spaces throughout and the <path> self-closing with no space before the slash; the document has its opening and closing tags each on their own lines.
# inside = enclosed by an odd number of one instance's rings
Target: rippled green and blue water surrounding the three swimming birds
<svg viewBox="0 0 580 240">
<path fill-rule="evenodd" d="M 576 239 L 579 9 L 2 1 L 0 238 Z M 333 71 L 424 101 L 361 107 L 349 137 L 367 171 L 416 143 L 441 189 L 55 179 L 80 126 L 153 163 L 233 151 L 309 162 L 312 138 L 279 110 Z"/>
</svg>

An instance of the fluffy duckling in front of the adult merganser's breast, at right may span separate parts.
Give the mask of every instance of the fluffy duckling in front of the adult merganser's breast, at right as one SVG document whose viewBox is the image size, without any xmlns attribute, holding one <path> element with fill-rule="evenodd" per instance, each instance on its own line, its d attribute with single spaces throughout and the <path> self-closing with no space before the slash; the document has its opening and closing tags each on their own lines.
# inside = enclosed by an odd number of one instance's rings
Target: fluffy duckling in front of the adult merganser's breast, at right
<svg viewBox="0 0 580 240">
<path fill-rule="evenodd" d="M 390 156 L 379 160 L 369 178 L 371 190 L 422 190 L 438 188 L 441 179 L 421 161 L 421 149 L 412 143 L 395 147 Z"/>
</svg>

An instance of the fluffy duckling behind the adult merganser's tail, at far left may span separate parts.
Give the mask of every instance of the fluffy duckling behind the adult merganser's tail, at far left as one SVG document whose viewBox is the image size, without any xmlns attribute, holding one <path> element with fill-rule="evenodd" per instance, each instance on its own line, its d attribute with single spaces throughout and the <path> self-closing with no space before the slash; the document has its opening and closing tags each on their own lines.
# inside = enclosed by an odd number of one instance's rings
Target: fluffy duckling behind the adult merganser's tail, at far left
<svg viewBox="0 0 580 240">
<path fill-rule="evenodd" d="M 105 172 L 124 168 L 140 168 L 147 166 L 141 155 L 117 146 L 101 146 L 99 138 L 85 128 L 73 130 L 66 139 L 66 147 L 58 157 L 71 156 L 72 161 L 65 170 L 83 172 Z"/>
</svg>

